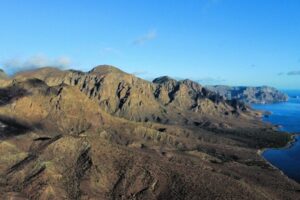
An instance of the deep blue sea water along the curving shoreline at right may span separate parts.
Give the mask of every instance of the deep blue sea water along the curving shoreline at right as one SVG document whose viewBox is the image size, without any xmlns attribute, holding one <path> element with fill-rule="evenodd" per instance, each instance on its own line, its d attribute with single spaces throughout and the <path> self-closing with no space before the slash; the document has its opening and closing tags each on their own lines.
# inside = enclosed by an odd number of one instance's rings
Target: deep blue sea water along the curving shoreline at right
<svg viewBox="0 0 300 200">
<path fill-rule="evenodd" d="M 272 113 L 269 117 L 264 117 L 264 121 L 280 125 L 281 130 L 300 133 L 300 91 L 285 92 L 290 96 L 288 102 L 252 106 Z M 263 157 L 300 183 L 300 135 L 289 148 L 268 149 L 263 153 Z"/>
</svg>

